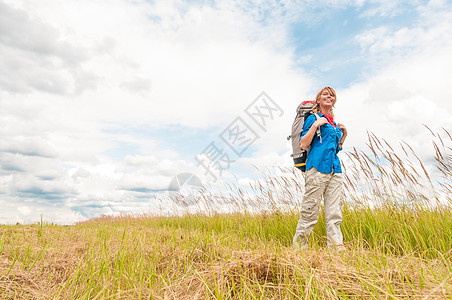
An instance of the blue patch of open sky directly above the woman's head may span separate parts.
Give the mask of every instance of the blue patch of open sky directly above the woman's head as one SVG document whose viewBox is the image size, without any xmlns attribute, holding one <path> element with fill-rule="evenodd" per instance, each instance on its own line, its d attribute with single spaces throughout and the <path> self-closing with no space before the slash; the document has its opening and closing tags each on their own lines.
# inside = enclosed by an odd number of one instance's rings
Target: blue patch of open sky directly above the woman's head
<svg viewBox="0 0 452 300">
<path fill-rule="evenodd" d="M 372 57 L 363 52 L 355 36 L 379 26 L 388 26 L 392 30 L 412 27 L 419 20 L 415 3 L 395 1 L 391 12 L 379 9 L 378 2 L 364 2 L 358 7 L 335 5 L 313 9 L 310 18 L 289 26 L 295 55 L 305 58 L 301 59 L 299 66 L 311 76 L 326 80 L 335 87 L 346 88 L 362 81 L 367 72 L 375 71 L 375 66 L 369 64 Z M 380 5 L 384 4 L 381 2 Z M 379 67 L 384 65 L 384 61 L 379 61 Z"/>
</svg>

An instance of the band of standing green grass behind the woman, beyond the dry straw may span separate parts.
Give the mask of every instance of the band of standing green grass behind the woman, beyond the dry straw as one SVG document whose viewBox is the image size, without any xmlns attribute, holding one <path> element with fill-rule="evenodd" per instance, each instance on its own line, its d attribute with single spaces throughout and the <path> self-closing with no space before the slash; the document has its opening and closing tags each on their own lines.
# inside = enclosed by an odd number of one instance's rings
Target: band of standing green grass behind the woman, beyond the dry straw
<svg viewBox="0 0 452 300">
<path fill-rule="evenodd" d="M 186 215 L 161 218 L 150 226 L 184 228 L 253 236 L 264 241 L 277 241 L 290 246 L 299 214 L 273 212 L 252 216 L 249 214 Z M 341 225 L 345 242 L 354 247 L 379 249 L 405 255 L 413 253 L 430 258 L 450 252 L 452 247 L 452 210 L 448 207 L 428 209 L 406 206 L 378 208 L 343 208 Z M 312 241 L 326 245 L 323 211 L 314 229 Z"/>
</svg>

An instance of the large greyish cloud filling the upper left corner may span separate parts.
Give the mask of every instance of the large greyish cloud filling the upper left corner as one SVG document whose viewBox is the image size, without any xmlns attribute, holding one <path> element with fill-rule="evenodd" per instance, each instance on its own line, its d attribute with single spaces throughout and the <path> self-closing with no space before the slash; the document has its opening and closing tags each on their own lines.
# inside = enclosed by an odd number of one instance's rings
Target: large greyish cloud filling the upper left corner
<svg viewBox="0 0 452 300">
<path fill-rule="evenodd" d="M 23 10 L 0 2 L 0 87 L 12 93 L 74 92 L 86 76 L 80 68 L 88 53 L 83 47 L 60 39 L 57 28 Z M 85 88 L 79 86 L 78 92 Z"/>
</svg>

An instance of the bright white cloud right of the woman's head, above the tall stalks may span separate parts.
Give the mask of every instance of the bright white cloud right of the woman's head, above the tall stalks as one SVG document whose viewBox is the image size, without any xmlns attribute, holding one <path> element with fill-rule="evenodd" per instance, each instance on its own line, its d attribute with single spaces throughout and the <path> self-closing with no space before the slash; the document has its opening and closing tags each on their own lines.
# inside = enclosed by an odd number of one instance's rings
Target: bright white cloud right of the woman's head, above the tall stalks
<svg viewBox="0 0 452 300">
<path fill-rule="evenodd" d="M 452 78 L 452 18 L 445 7 L 427 13 L 430 9 L 423 8 L 414 27 L 358 35 L 370 60 L 385 64 L 366 81 L 339 91 L 338 115 L 350 129 L 351 145 L 361 146 L 369 130 L 392 144 L 407 141 L 427 159 L 432 136 L 422 124 L 434 131 L 451 128 L 452 102 L 445 93 Z"/>
</svg>

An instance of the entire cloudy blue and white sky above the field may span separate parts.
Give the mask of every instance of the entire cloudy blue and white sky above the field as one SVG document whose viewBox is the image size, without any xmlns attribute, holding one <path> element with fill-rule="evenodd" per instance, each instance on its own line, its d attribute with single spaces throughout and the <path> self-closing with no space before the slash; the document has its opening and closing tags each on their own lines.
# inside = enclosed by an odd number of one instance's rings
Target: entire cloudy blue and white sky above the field
<svg viewBox="0 0 452 300">
<path fill-rule="evenodd" d="M 290 168 L 324 86 L 344 151 L 373 132 L 432 161 L 450 53 L 445 0 L 0 0 L 0 223 L 164 212 L 184 183 Z"/>
</svg>

